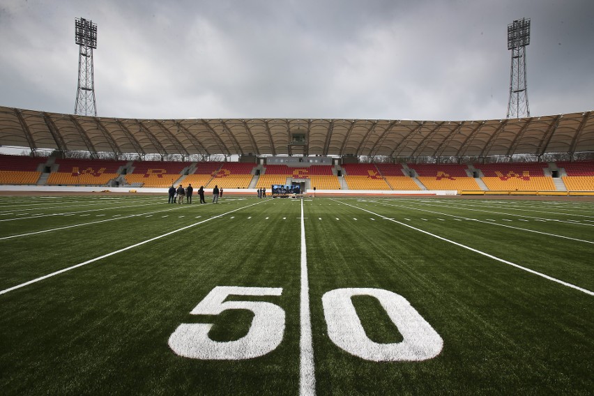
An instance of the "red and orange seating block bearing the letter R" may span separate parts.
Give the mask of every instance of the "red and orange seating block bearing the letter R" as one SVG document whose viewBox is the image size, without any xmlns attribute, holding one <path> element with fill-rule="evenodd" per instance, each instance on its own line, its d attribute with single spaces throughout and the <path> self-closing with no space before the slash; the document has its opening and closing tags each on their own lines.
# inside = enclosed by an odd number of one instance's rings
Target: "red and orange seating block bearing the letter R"
<svg viewBox="0 0 594 396">
<path fill-rule="evenodd" d="M 125 175 L 129 184 L 139 183 L 143 187 L 168 188 L 181 177 L 183 169 L 191 162 L 135 161 L 132 173 Z"/>
</svg>

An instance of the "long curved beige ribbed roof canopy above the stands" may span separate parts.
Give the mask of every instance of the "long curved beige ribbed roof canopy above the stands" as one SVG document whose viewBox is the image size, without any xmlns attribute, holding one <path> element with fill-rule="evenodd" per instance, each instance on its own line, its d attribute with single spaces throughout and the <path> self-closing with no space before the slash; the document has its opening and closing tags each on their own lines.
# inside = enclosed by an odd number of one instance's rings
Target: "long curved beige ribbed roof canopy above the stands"
<svg viewBox="0 0 594 396">
<path fill-rule="evenodd" d="M 473 121 L 114 119 L 0 107 L 0 145 L 141 155 L 542 155 L 594 151 L 594 117 L 590 111 Z"/>
</svg>

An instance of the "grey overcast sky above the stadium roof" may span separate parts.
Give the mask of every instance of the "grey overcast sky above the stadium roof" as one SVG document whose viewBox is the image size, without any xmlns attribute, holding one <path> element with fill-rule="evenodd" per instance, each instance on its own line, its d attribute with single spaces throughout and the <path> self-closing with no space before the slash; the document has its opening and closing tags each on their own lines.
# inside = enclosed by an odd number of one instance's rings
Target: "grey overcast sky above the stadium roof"
<svg viewBox="0 0 594 396">
<path fill-rule="evenodd" d="M 594 109 L 593 0 L 0 0 L 0 105 L 74 112 L 76 17 L 98 116 L 505 118 L 521 17 L 531 115 Z"/>
</svg>

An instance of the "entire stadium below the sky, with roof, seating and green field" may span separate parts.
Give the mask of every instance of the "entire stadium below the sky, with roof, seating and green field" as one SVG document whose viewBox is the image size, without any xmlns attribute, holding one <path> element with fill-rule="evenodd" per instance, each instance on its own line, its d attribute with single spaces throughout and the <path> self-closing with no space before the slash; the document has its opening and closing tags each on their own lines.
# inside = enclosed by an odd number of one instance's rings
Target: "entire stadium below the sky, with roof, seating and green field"
<svg viewBox="0 0 594 396">
<path fill-rule="evenodd" d="M 594 392 L 592 110 L 2 106 L 0 147 L 4 395 Z"/>
</svg>

